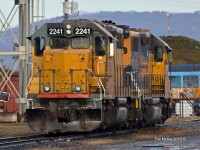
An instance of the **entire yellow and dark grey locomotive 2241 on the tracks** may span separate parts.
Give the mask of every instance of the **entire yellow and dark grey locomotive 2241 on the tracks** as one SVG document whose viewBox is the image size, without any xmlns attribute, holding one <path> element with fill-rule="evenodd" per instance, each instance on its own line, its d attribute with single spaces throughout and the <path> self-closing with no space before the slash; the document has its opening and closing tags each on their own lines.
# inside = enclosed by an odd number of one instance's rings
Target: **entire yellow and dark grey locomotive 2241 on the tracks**
<svg viewBox="0 0 200 150">
<path fill-rule="evenodd" d="M 148 30 L 112 21 L 47 23 L 31 37 L 31 129 L 87 132 L 170 117 L 172 49 Z"/>
</svg>

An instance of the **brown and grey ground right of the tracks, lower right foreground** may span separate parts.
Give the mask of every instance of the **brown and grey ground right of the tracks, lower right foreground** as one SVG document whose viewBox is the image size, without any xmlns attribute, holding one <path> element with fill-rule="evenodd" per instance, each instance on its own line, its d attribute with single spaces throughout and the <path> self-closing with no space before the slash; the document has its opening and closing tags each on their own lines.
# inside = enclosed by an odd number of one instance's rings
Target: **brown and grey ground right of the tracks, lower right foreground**
<svg viewBox="0 0 200 150">
<path fill-rule="evenodd" d="M 165 124 L 167 127 L 161 128 L 156 131 L 139 131 L 138 133 L 133 133 L 125 137 L 118 138 L 98 138 L 98 139 L 89 139 L 82 141 L 82 145 L 95 147 L 97 146 L 100 149 L 105 148 L 109 149 L 110 147 L 115 149 L 129 149 L 139 147 L 145 147 L 145 145 L 150 145 L 149 147 L 168 147 L 173 148 L 175 146 L 184 146 L 185 143 L 198 144 L 195 140 L 199 139 L 200 135 L 200 117 L 190 117 L 190 118 L 169 118 Z M 194 120 L 194 122 L 191 120 Z M 143 147 L 144 146 L 144 147 Z M 190 146 L 190 145 L 185 145 Z M 200 146 L 200 143 L 199 143 Z M 147 148 L 146 147 L 146 148 Z M 199 147 L 200 148 L 200 147 Z M 98 148 L 97 148 L 98 149 Z"/>
</svg>

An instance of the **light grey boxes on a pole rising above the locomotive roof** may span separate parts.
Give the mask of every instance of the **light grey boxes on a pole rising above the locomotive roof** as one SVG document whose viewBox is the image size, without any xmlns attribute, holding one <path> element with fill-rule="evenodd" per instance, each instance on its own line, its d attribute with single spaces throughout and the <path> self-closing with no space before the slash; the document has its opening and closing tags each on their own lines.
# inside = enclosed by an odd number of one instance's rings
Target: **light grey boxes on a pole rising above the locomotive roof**
<svg viewBox="0 0 200 150">
<path fill-rule="evenodd" d="M 70 7 L 70 5 L 71 5 L 71 7 Z M 71 10 L 71 14 L 78 13 L 78 3 L 74 2 L 73 0 L 71 3 L 68 0 L 65 0 L 63 2 L 63 13 L 64 13 L 65 20 L 67 20 L 69 18 L 70 10 Z"/>
</svg>

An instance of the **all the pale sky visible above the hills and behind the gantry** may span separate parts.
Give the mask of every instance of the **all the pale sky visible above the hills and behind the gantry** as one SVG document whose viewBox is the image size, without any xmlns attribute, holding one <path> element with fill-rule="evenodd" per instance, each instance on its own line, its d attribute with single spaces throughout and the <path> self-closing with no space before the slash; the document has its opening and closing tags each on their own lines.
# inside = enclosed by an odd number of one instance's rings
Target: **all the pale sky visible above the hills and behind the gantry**
<svg viewBox="0 0 200 150">
<path fill-rule="evenodd" d="M 36 0 L 35 0 L 36 1 Z M 40 0 L 42 1 L 42 0 Z M 45 17 L 63 15 L 64 0 L 45 0 Z M 72 0 L 69 0 L 72 1 Z M 74 0 L 79 4 L 79 12 L 98 11 L 167 11 L 195 12 L 200 11 L 200 0 Z M 14 0 L 0 0 L 0 10 L 8 16 Z M 0 17 L 1 14 L 0 14 Z M 15 17 L 14 22 L 17 22 Z"/>
</svg>

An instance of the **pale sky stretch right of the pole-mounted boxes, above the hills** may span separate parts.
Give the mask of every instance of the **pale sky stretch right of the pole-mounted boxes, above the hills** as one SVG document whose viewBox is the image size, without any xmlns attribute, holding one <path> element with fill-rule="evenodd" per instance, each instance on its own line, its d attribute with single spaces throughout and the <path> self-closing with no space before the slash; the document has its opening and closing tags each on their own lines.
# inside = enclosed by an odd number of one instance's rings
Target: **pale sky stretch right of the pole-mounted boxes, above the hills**
<svg viewBox="0 0 200 150">
<path fill-rule="evenodd" d="M 200 10 L 199 0 L 77 0 L 77 2 L 80 10 L 83 11 L 194 12 Z"/>
</svg>

